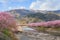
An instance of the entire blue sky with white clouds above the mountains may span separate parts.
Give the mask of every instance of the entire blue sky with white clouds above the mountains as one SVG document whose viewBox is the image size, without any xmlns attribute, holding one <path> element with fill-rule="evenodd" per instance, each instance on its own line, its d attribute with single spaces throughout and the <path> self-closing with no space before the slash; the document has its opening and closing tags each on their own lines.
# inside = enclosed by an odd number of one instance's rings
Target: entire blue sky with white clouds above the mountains
<svg viewBox="0 0 60 40">
<path fill-rule="evenodd" d="M 60 10 L 60 0 L 0 0 L 0 11 L 11 9 Z"/>
</svg>

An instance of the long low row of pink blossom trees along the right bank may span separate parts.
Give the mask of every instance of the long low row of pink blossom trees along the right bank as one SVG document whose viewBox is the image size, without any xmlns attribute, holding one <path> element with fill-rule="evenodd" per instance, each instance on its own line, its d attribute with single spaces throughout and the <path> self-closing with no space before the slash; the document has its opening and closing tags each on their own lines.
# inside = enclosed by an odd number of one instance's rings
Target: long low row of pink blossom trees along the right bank
<svg viewBox="0 0 60 40">
<path fill-rule="evenodd" d="M 60 20 L 40 22 L 40 23 L 29 23 L 28 26 L 42 26 L 42 27 L 60 27 Z"/>
</svg>

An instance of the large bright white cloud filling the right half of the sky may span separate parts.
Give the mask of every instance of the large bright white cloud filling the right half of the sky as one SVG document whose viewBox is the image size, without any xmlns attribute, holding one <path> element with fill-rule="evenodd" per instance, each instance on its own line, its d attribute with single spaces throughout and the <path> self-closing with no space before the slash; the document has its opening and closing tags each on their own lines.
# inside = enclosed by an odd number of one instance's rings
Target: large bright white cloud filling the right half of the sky
<svg viewBox="0 0 60 40">
<path fill-rule="evenodd" d="M 60 0 L 37 0 L 32 2 L 30 9 L 34 10 L 58 10 L 60 9 Z"/>
</svg>

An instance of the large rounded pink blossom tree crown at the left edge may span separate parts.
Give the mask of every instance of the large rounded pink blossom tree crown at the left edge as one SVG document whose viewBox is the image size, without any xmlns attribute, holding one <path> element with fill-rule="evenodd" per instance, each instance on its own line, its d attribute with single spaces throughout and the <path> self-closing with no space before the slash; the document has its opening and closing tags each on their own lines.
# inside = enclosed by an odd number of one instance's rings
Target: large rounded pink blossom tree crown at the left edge
<svg viewBox="0 0 60 40">
<path fill-rule="evenodd" d="M 14 17 L 7 12 L 0 12 L 0 29 L 15 28 L 16 21 Z"/>
</svg>

